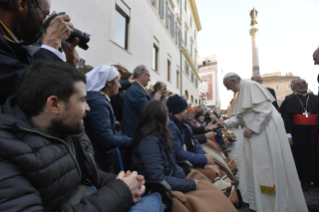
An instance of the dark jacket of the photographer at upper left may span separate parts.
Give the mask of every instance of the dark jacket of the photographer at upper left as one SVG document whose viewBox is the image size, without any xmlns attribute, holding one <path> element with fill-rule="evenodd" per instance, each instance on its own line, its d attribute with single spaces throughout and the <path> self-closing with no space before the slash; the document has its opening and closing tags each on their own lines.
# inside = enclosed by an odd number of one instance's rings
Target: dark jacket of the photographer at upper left
<svg viewBox="0 0 319 212">
<path fill-rule="evenodd" d="M 0 24 L 0 105 L 3 105 L 6 99 L 16 92 L 28 65 L 40 61 L 62 62 L 58 56 L 46 49 L 40 49 L 33 58 L 28 46 L 10 42 L 4 38 L 4 34 L 9 36 Z"/>
</svg>

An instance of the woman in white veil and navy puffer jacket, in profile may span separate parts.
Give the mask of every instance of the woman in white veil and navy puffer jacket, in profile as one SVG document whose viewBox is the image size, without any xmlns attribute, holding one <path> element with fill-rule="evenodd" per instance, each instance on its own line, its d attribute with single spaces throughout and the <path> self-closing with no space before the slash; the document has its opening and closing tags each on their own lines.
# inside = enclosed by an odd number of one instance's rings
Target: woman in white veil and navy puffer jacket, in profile
<svg viewBox="0 0 319 212">
<path fill-rule="evenodd" d="M 85 132 L 94 150 L 95 160 L 101 169 L 112 172 L 112 156 L 106 152 L 116 147 L 129 149 L 131 138 L 115 131 L 115 117 L 110 104 L 110 96 L 121 87 L 119 72 L 113 66 L 100 66 L 86 74 L 86 101 L 91 111 L 84 118 Z"/>
</svg>

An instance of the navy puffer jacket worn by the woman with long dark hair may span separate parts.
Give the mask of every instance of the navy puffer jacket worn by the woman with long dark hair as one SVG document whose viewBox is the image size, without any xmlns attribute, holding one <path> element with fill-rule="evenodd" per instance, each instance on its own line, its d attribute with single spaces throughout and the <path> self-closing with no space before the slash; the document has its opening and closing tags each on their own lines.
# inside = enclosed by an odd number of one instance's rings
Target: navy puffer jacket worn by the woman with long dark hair
<svg viewBox="0 0 319 212">
<path fill-rule="evenodd" d="M 132 153 L 132 170 L 145 179 L 166 180 L 174 191 L 188 192 L 196 190 L 193 179 L 184 179 L 185 173 L 176 164 L 174 152 L 166 150 L 163 138 L 144 138 Z"/>
</svg>

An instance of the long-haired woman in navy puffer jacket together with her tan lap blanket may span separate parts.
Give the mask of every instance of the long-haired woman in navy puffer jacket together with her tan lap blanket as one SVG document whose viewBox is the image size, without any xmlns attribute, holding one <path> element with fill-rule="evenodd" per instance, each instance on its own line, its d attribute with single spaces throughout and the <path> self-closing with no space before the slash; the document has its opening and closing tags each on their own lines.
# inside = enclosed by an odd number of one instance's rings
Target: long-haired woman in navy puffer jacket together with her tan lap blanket
<svg viewBox="0 0 319 212">
<path fill-rule="evenodd" d="M 146 103 L 132 138 L 132 169 L 146 180 L 166 180 L 170 184 L 173 211 L 235 212 L 232 200 L 227 199 L 203 174 L 192 170 L 185 176 L 175 161 L 168 123 L 168 109 L 163 102 L 151 100 Z"/>
</svg>

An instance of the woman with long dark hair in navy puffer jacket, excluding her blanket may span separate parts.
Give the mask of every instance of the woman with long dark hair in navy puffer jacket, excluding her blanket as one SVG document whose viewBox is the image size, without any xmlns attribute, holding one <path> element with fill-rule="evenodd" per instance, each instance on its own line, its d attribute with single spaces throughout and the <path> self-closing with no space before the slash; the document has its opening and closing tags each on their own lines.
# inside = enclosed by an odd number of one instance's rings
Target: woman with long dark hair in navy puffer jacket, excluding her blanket
<svg viewBox="0 0 319 212">
<path fill-rule="evenodd" d="M 176 164 L 166 105 L 158 100 L 149 101 L 139 114 L 133 136 L 132 169 L 146 179 L 166 180 L 172 190 L 196 190 L 197 180 L 185 179 L 185 173 Z"/>
</svg>

